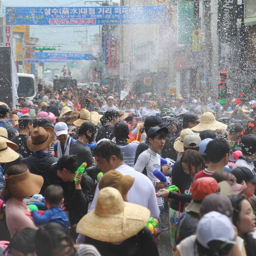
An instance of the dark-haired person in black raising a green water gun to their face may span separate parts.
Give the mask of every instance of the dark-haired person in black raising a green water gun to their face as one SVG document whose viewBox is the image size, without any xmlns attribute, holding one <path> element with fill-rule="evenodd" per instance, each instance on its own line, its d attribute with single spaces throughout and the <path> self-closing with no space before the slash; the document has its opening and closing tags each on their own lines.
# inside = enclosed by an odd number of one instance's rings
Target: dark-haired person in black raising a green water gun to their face
<svg viewBox="0 0 256 256">
<path fill-rule="evenodd" d="M 64 181 L 64 206 L 69 211 L 71 225 L 77 224 L 87 213 L 95 191 L 95 183 L 85 168 L 86 163 L 79 166 L 76 155 L 64 155 L 52 165 L 57 176 Z"/>
</svg>

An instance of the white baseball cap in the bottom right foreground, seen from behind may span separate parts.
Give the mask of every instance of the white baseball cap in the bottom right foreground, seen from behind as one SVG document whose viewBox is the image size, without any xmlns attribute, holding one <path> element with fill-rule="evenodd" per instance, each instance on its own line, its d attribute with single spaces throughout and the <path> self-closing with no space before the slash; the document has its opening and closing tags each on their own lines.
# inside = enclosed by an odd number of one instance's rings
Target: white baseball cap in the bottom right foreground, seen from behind
<svg viewBox="0 0 256 256">
<path fill-rule="evenodd" d="M 213 240 L 227 244 L 236 244 L 235 231 L 230 219 L 217 211 L 206 213 L 197 226 L 197 240 L 207 249 L 208 243 Z"/>
</svg>

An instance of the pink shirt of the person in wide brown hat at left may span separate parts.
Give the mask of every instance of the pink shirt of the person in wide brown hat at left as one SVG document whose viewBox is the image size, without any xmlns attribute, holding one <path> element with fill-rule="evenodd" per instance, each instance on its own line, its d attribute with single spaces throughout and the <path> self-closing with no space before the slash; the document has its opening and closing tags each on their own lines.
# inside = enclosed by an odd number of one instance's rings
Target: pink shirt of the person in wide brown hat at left
<svg viewBox="0 0 256 256">
<path fill-rule="evenodd" d="M 5 215 L 7 228 L 11 234 L 11 237 L 13 237 L 18 230 L 23 228 L 38 229 L 31 217 L 26 216 L 26 213 L 30 213 L 30 210 L 26 207 L 24 202 L 21 202 L 15 198 L 10 198 L 7 200 Z"/>
</svg>

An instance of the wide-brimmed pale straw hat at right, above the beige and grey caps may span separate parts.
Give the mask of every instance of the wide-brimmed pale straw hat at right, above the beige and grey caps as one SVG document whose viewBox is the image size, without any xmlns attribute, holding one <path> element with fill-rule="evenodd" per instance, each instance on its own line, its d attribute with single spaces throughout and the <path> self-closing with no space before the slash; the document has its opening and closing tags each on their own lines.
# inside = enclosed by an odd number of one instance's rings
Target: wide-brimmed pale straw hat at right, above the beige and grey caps
<svg viewBox="0 0 256 256">
<path fill-rule="evenodd" d="M 203 131 L 203 130 L 217 130 L 224 129 L 226 130 L 228 125 L 216 121 L 214 115 L 211 112 L 205 112 L 202 115 L 201 123 L 193 127 L 193 131 Z"/>
</svg>

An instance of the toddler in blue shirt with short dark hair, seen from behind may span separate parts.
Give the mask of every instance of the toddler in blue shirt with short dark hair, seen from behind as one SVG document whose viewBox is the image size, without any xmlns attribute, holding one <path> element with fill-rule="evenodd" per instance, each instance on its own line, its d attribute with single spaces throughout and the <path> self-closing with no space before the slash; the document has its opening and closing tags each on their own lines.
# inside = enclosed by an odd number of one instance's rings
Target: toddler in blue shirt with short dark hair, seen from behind
<svg viewBox="0 0 256 256">
<path fill-rule="evenodd" d="M 36 226 L 41 226 L 48 222 L 56 222 L 66 229 L 68 228 L 69 219 L 67 214 L 62 210 L 63 189 L 59 185 L 50 185 L 45 189 L 45 204 L 48 208 L 42 215 L 37 210 L 32 210 L 31 214 Z"/>
</svg>

